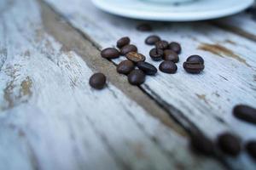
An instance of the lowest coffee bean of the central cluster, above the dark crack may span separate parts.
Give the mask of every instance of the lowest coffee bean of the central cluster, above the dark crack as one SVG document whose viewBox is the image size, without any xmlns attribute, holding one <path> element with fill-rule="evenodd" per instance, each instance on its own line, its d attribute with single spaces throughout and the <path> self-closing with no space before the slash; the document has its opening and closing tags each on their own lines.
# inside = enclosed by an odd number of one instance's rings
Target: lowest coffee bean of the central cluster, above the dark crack
<svg viewBox="0 0 256 170">
<path fill-rule="evenodd" d="M 146 75 L 144 74 L 143 71 L 140 70 L 133 70 L 131 73 L 128 75 L 128 81 L 132 85 L 141 85 L 143 82 L 145 82 Z"/>
</svg>

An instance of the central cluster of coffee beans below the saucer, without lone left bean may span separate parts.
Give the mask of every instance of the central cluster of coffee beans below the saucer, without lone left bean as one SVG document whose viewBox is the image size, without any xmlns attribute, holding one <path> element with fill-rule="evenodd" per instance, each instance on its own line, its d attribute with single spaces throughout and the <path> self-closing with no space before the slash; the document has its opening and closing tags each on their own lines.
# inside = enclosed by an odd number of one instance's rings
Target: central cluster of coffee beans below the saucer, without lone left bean
<svg viewBox="0 0 256 170">
<path fill-rule="evenodd" d="M 140 31 L 149 31 L 150 26 L 143 24 L 137 27 Z M 102 58 L 116 59 L 119 56 L 125 56 L 126 60 L 119 63 L 117 71 L 120 74 L 125 74 L 128 77 L 128 82 L 131 85 L 141 85 L 145 82 L 146 75 L 154 76 L 157 73 L 157 68 L 154 65 L 146 62 L 144 54 L 138 53 L 138 49 L 134 44 L 131 44 L 129 37 L 121 37 L 116 42 L 117 48 L 105 48 L 102 50 Z M 149 51 L 149 56 L 154 61 L 163 60 L 159 65 L 159 70 L 168 74 L 177 72 L 176 63 L 179 61 L 178 54 L 181 54 L 182 48 L 178 42 L 167 42 L 161 40 L 156 35 L 149 36 L 145 39 L 148 45 L 154 45 Z M 184 63 L 183 68 L 189 73 L 198 74 L 204 70 L 204 59 L 199 55 L 191 55 Z"/>
</svg>

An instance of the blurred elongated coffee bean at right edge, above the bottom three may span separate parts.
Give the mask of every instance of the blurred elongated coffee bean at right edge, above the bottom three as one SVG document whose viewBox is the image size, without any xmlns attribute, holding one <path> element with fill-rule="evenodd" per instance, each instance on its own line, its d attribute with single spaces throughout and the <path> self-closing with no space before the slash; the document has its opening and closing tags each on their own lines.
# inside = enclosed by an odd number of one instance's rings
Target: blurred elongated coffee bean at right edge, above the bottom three
<svg viewBox="0 0 256 170">
<path fill-rule="evenodd" d="M 256 109 L 248 105 L 236 105 L 233 115 L 242 121 L 256 124 Z"/>
</svg>

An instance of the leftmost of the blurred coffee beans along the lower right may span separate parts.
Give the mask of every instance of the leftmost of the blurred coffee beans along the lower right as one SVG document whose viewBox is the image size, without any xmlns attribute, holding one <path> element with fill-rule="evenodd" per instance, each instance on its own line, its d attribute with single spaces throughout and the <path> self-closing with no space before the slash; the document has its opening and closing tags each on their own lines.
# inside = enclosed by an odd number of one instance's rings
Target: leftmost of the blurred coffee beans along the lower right
<svg viewBox="0 0 256 170">
<path fill-rule="evenodd" d="M 213 142 L 201 133 L 190 135 L 190 146 L 196 152 L 207 156 L 212 156 L 215 148 Z"/>
</svg>

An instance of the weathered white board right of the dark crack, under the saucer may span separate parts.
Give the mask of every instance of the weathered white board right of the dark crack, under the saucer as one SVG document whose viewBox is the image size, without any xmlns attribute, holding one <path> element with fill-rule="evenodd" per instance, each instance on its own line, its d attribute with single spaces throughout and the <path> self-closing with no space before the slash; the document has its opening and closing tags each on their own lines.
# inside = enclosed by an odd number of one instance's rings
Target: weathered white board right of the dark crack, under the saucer
<svg viewBox="0 0 256 170">
<path fill-rule="evenodd" d="M 255 42 L 202 22 L 151 22 L 153 32 L 140 32 L 136 26 L 143 21 L 103 13 L 90 1 L 46 2 L 101 48 L 114 46 L 116 40 L 123 36 L 131 37 L 132 43 L 143 54 L 148 54 L 151 48 L 143 43 L 150 34 L 181 42 L 183 54 L 177 64 L 177 74 L 159 72 L 157 77 L 148 77 L 143 90 L 184 127 L 197 127 L 212 139 L 224 131 L 236 133 L 244 141 L 256 138 L 255 126 L 237 121 L 231 114 L 234 105 L 256 105 Z M 189 75 L 183 71 L 183 61 L 189 54 L 201 54 L 206 60 L 206 69 L 201 75 Z M 120 60 L 113 62 L 117 64 Z M 147 60 L 152 62 L 149 58 Z M 246 155 L 233 162 L 238 168 L 255 169 L 255 164 Z"/>
</svg>

